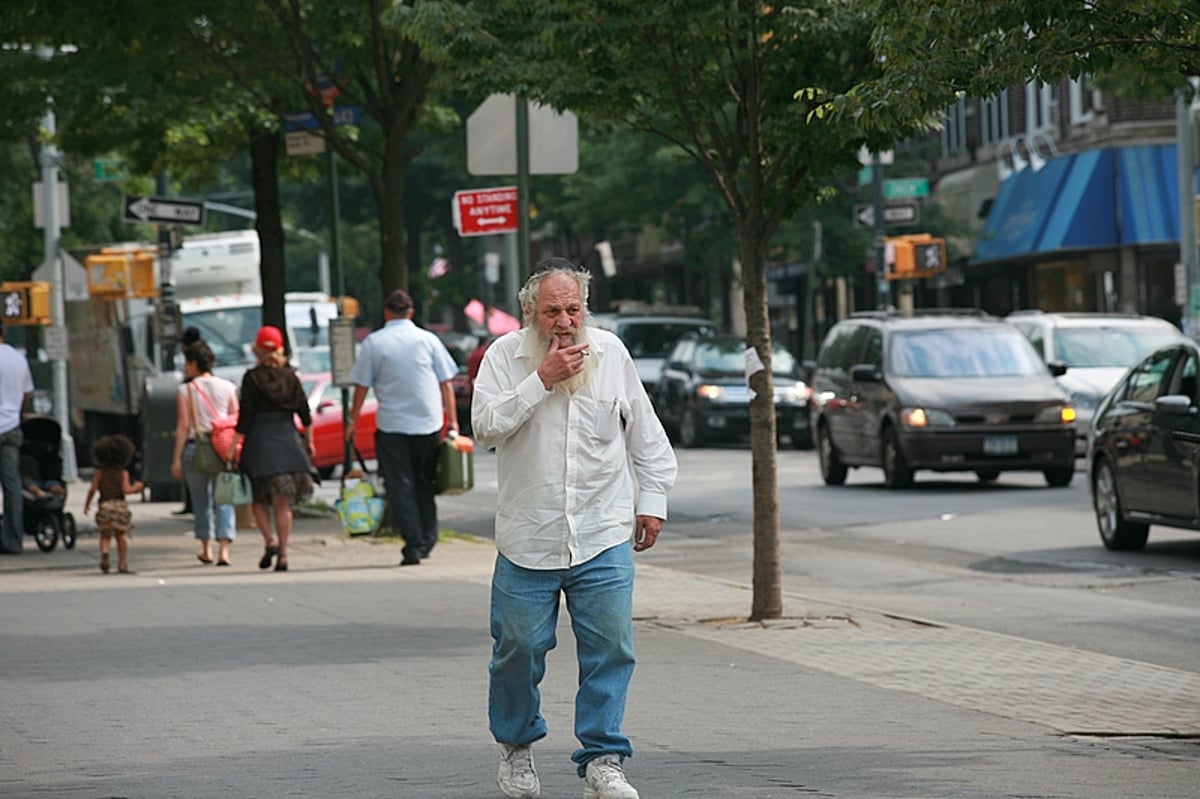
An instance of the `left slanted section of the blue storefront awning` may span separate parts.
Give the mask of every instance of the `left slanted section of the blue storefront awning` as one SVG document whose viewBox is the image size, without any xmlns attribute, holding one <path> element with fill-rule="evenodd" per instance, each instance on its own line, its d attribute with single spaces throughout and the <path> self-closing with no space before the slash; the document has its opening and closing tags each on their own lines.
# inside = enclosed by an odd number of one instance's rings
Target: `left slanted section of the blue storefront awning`
<svg viewBox="0 0 1200 799">
<path fill-rule="evenodd" d="M 1051 158 L 1003 182 L 988 214 L 973 264 L 1117 244 L 1111 150 Z"/>
</svg>

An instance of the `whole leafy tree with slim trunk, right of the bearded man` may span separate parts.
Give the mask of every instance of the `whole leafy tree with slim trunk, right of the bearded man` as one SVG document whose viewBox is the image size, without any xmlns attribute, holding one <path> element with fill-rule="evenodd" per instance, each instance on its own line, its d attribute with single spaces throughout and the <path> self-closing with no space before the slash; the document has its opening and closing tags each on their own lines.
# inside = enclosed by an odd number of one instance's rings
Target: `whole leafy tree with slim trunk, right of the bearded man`
<svg viewBox="0 0 1200 799">
<path fill-rule="evenodd" d="M 853 119 L 806 124 L 798 85 L 848 90 L 875 74 L 865 8 L 840 0 L 497 0 L 442 7 L 442 46 L 475 85 L 581 118 L 652 132 L 704 170 L 736 230 L 748 343 L 767 366 L 750 379 L 754 619 L 782 614 L 775 415 L 766 263 L 772 235 L 856 162 Z M 457 11 L 457 17 L 455 12 Z M 474 70 L 472 72 L 472 70 Z M 889 132 L 894 133 L 894 132 Z M 883 145 L 894 136 L 868 144 Z"/>
</svg>

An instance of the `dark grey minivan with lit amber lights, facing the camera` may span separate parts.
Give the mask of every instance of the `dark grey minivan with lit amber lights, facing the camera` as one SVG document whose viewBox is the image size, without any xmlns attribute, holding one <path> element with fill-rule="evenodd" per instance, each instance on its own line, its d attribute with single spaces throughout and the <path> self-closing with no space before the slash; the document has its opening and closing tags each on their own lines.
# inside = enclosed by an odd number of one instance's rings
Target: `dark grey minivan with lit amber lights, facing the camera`
<svg viewBox="0 0 1200 799">
<path fill-rule="evenodd" d="M 978 312 L 856 313 L 826 336 L 812 373 L 812 431 L 828 485 L 851 467 L 913 471 L 1075 471 L 1075 410 L 1030 342 Z"/>
</svg>

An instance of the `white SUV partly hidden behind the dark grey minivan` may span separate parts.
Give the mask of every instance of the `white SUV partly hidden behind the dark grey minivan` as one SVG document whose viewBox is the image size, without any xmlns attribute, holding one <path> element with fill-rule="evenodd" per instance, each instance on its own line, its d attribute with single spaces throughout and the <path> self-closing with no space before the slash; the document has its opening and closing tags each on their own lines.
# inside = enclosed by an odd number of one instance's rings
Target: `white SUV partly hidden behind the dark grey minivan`
<svg viewBox="0 0 1200 799">
<path fill-rule="evenodd" d="M 1159 344 L 1184 338 L 1183 331 L 1165 319 L 1136 313 L 1016 311 L 1006 320 L 1025 334 L 1046 364 L 1067 366 L 1058 384 L 1078 415 L 1078 456 L 1087 451 L 1087 431 L 1097 405 L 1121 376 Z"/>
</svg>

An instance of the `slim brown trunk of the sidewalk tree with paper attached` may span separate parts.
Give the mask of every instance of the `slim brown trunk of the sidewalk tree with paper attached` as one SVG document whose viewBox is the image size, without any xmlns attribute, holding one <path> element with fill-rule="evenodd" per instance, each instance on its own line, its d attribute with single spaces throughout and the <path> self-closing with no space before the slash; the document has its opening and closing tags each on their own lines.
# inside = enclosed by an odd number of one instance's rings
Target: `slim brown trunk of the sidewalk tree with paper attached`
<svg viewBox="0 0 1200 799">
<path fill-rule="evenodd" d="M 749 226 L 748 226 L 749 227 Z M 763 368 L 750 377 L 750 458 L 754 486 L 754 595 L 750 620 L 784 615 L 782 566 L 779 547 L 779 481 L 775 473 L 775 380 L 770 366 L 770 314 L 767 305 L 766 238 L 743 232 L 743 305 L 746 344 Z"/>
</svg>

